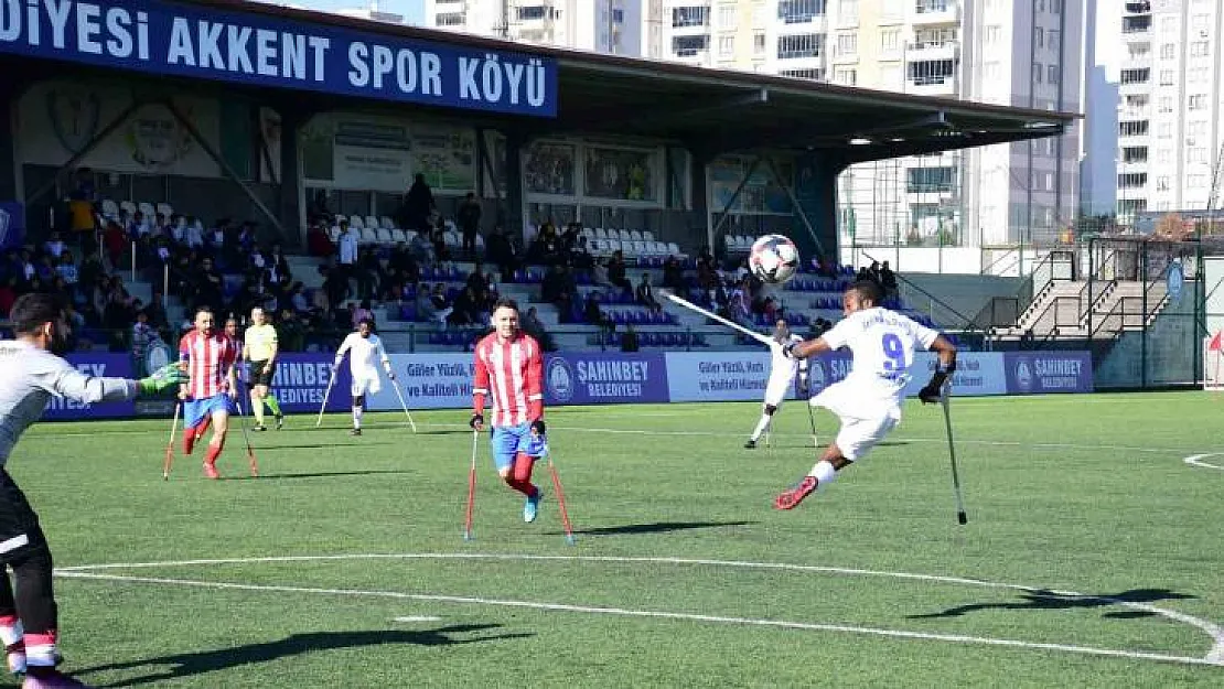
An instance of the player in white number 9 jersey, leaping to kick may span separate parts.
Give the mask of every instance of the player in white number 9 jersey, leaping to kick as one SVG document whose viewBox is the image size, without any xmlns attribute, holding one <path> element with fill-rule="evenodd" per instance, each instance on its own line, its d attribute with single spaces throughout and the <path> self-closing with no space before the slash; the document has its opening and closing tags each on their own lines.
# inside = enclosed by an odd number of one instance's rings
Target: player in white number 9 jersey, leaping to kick
<svg viewBox="0 0 1224 689">
<path fill-rule="evenodd" d="M 823 351 L 849 348 L 854 361 L 849 374 L 812 398 L 841 420 L 837 438 L 798 485 L 774 501 L 777 509 L 792 509 L 815 490 L 832 482 L 837 471 L 862 459 L 901 422 L 901 403 L 914 350 L 939 354 L 930 382 L 918 393 L 923 404 L 941 399 L 944 383 L 956 371 L 956 348 L 942 335 L 908 317 L 876 306 L 884 301 L 879 285 L 859 281 L 842 295 L 846 317 L 824 335 L 786 351 L 804 359 Z"/>
</svg>

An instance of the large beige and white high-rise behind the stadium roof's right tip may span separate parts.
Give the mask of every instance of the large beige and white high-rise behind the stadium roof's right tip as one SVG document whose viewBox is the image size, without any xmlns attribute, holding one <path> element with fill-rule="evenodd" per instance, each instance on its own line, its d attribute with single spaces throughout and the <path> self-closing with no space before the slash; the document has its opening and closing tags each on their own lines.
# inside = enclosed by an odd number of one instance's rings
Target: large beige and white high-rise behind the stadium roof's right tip
<svg viewBox="0 0 1224 689">
<path fill-rule="evenodd" d="M 1081 110 L 1080 0 L 645 0 L 651 56 L 865 88 Z M 645 32 L 650 37 L 650 32 Z M 1078 131 L 856 165 L 843 241 L 1000 245 L 1075 219 Z"/>
</svg>

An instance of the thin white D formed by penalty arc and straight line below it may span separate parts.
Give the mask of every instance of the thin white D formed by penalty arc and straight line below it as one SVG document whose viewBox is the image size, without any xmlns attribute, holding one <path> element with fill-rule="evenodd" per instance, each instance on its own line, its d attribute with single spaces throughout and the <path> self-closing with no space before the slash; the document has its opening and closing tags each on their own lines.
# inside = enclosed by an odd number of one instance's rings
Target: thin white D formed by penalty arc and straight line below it
<svg viewBox="0 0 1224 689">
<path fill-rule="evenodd" d="M 1141 651 L 1125 651 L 1115 649 L 1095 649 L 1091 646 L 1078 646 L 1078 645 L 1066 645 L 1066 644 L 1045 644 L 1045 642 L 1029 642 L 1029 641 L 1017 641 L 1011 639 L 993 639 L 985 636 L 965 636 L 955 634 L 929 634 L 919 631 L 906 631 L 896 629 L 878 629 L 869 627 L 851 627 L 842 624 L 816 624 L 816 623 L 803 623 L 803 622 L 782 622 L 782 620 L 769 620 L 769 619 L 752 619 L 752 618 L 737 618 L 737 617 L 722 617 L 722 616 L 705 616 L 694 613 L 674 613 L 674 612 L 656 612 L 656 611 L 633 611 L 625 608 L 606 608 L 606 607 L 590 607 L 590 606 L 573 606 L 565 603 L 541 603 L 530 601 L 506 601 L 497 598 L 477 598 L 470 596 L 443 596 L 433 594 L 403 594 L 395 591 L 360 591 L 350 589 L 315 589 L 315 587 L 301 587 L 301 586 L 266 586 L 266 585 L 248 585 L 248 584 L 234 584 L 234 583 L 212 583 L 212 581 L 200 581 L 192 579 L 163 579 L 163 578 L 149 578 L 149 576 L 130 576 L 130 575 L 111 575 L 111 574 L 99 574 L 98 570 L 103 569 L 148 569 L 148 568 L 168 568 L 168 567 L 206 567 L 217 564 L 255 564 L 255 563 L 289 563 L 289 562 L 327 562 L 327 561 L 360 561 L 360 559 L 494 559 L 494 561 L 561 561 L 561 562 L 599 562 L 599 563 L 663 563 L 663 564 L 678 564 L 678 565 L 705 565 L 705 567 L 728 567 L 728 568 L 741 568 L 741 569 L 774 569 L 774 570 L 786 570 L 786 572 L 807 572 L 807 573 L 823 573 L 823 574 L 841 574 L 851 576 L 879 576 L 879 578 L 891 578 L 891 579 L 906 579 L 916 581 L 929 581 L 940 584 L 953 584 L 953 585 L 966 585 L 966 586 L 980 586 L 988 589 L 1006 589 L 1015 591 L 1024 591 L 1037 595 L 1056 595 L 1064 597 L 1077 597 L 1092 601 L 1104 601 L 1108 603 L 1115 603 L 1119 606 L 1141 609 L 1152 614 L 1158 614 L 1166 619 L 1180 622 L 1196 627 L 1204 631 L 1212 639 L 1212 647 L 1204 657 L 1195 658 L 1189 656 L 1174 656 L 1165 654 L 1149 654 Z M 1078 594 L 1075 591 L 1061 591 L 1050 589 L 1039 589 L 1034 586 L 1026 586 L 1020 584 L 1005 584 L 999 581 L 988 581 L 983 579 L 968 579 L 962 576 L 944 576 L 935 574 L 916 574 L 908 572 L 884 572 L 884 570 L 871 570 L 871 569 L 854 569 L 854 568 L 842 568 L 842 567 L 821 567 L 821 565 L 802 565 L 802 564 L 788 564 L 788 563 L 765 563 L 765 562 L 744 562 L 744 561 L 717 561 L 717 559 L 692 559 L 692 558 L 666 558 L 666 557 L 616 557 L 616 556 L 530 556 L 530 554 L 494 554 L 494 553 L 365 553 L 365 554 L 337 554 L 337 556 L 282 556 L 282 557 L 252 557 L 252 558 L 225 558 L 225 559 L 192 559 L 192 561 L 173 561 L 173 562 L 142 562 L 142 563 L 110 563 L 110 564 L 93 564 L 93 565 L 78 565 L 56 569 L 56 575 L 62 578 L 75 578 L 75 579 L 95 579 L 95 580 L 110 580 L 110 581 L 130 581 L 130 583 L 143 583 L 143 584 L 164 584 L 164 585 L 180 585 L 180 586 L 196 586 L 196 587 L 213 587 L 213 589 L 236 589 L 236 590 L 250 590 L 250 591 L 280 591 L 280 592 L 305 592 L 305 594 L 328 594 L 328 595 L 345 595 L 345 596 L 373 596 L 373 597 L 390 597 L 390 598 L 404 598 L 404 600 L 417 600 L 417 601 L 435 601 L 435 602 L 458 602 L 458 603 L 480 603 L 491 606 L 503 606 L 503 607 L 523 607 L 523 608 L 535 608 L 535 609 L 548 609 L 548 611 L 569 611 L 569 612 L 586 612 L 592 614 L 616 614 L 627 617 L 656 617 L 656 618 L 668 618 L 668 619 L 687 619 L 696 622 L 717 622 L 726 624 L 744 624 L 755 627 L 778 627 L 788 629 L 809 629 L 809 630 L 824 630 L 824 631 L 843 631 L 854 634 L 870 634 L 876 636 L 891 636 L 900 639 L 927 639 L 935 641 L 949 641 L 958 644 L 982 644 L 982 645 L 995 645 L 995 646 L 1013 646 L 1013 647 L 1027 647 L 1027 649 L 1043 649 L 1043 650 L 1056 650 L 1075 654 L 1097 655 L 1097 656 L 1115 656 L 1115 657 L 1130 657 L 1140 660 L 1153 660 L 1164 662 L 1179 662 L 1186 665 L 1214 665 L 1224 666 L 1224 627 L 1215 623 L 1208 622 L 1202 618 L 1197 618 L 1190 614 L 1180 613 L 1176 611 L 1170 611 L 1160 608 L 1148 603 L 1137 603 L 1131 601 L 1124 601 L 1120 598 L 1111 598 L 1109 596 L 1092 596 L 1086 594 Z"/>
</svg>

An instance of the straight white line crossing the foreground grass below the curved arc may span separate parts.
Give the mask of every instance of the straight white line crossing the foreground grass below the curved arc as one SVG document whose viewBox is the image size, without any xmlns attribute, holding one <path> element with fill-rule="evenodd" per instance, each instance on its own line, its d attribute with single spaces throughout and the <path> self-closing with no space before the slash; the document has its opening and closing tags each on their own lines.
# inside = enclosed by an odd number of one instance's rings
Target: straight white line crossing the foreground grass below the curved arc
<svg viewBox="0 0 1224 689">
<path fill-rule="evenodd" d="M 717 623 L 717 624 L 733 624 L 742 627 L 761 627 L 761 628 L 776 628 L 776 629 L 800 629 L 809 631 L 835 631 L 843 634 L 858 634 L 865 636 L 881 636 L 889 639 L 909 639 L 909 640 L 925 640 L 925 641 L 944 641 L 951 644 L 966 644 L 966 645 L 980 645 L 980 646 L 1004 646 L 1013 649 L 1028 649 L 1028 650 L 1043 650 L 1043 651 L 1060 651 L 1067 654 L 1080 654 L 1088 656 L 1102 656 L 1102 657 L 1119 657 L 1119 658 L 1132 658 L 1132 660 L 1147 660 L 1166 663 L 1179 663 L 1179 665 L 1195 665 L 1195 666 L 1224 666 L 1224 658 L 1208 656 L 1206 658 L 1195 658 L 1189 656 L 1175 656 L 1168 654 L 1153 654 L 1146 651 L 1127 651 L 1120 649 L 1098 649 L 1093 646 L 1080 646 L 1073 644 L 1050 644 L 1039 641 L 1021 641 L 1016 639 L 995 639 L 990 636 L 972 636 L 963 634 L 935 634 L 927 631 L 908 631 L 903 629 L 884 629 L 876 627 L 854 627 L 848 624 L 824 624 L 824 623 L 808 623 L 808 622 L 786 622 L 776 619 L 756 619 L 745 617 L 727 617 L 727 616 L 714 616 L 714 614 L 698 614 L 698 613 L 682 613 L 682 612 L 663 612 L 663 611 L 644 611 L 644 609 L 630 609 L 630 608 L 618 608 L 618 607 L 596 607 L 596 606 L 579 606 L 569 603 L 550 603 L 550 602 L 535 602 L 535 601 L 515 601 L 504 598 L 482 598 L 475 596 L 450 596 L 441 594 L 406 594 L 400 591 L 364 591 L 356 589 L 322 589 L 322 587 L 310 587 L 310 586 L 279 586 L 279 585 L 267 585 L 267 584 L 237 584 L 230 581 L 203 581 L 196 579 L 165 579 L 158 576 L 127 576 L 119 574 L 98 574 L 87 572 L 59 572 L 58 576 L 69 579 L 88 579 L 98 581 L 116 581 L 116 583 L 129 583 L 129 584 L 152 584 L 152 585 L 165 585 L 165 586 L 187 586 L 196 589 L 214 589 L 214 590 L 235 590 L 235 591 L 272 591 L 279 594 L 317 594 L 328 596 L 349 596 L 349 597 L 376 597 L 376 598 L 394 598 L 394 600 L 408 600 L 408 601 L 424 601 L 424 602 L 441 602 L 441 603 L 463 603 L 463 605 L 480 605 L 480 606 L 497 606 L 497 607 L 510 607 L 510 608 L 525 608 L 525 609 L 539 609 L 548 612 L 578 612 L 588 614 L 606 614 L 616 617 L 635 617 L 635 618 L 655 618 L 655 619 L 672 619 L 683 622 L 705 622 L 705 623 Z M 399 618 L 397 618 L 399 619 Z M 412 618 L 416 619 L 416 618 Z"/>
</svg>

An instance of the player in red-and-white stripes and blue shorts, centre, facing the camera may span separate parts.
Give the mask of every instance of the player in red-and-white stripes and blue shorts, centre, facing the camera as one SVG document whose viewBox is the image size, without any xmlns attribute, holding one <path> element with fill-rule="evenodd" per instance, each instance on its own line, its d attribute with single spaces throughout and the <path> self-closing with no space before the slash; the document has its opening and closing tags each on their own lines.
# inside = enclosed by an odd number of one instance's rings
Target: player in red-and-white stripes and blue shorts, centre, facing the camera
<svg viewBox="0 0 1224 689">
<path fill-rule="evenodd" d="M 542 493 L 531 483 L 535 461 L 547 441 L 543 423 L 543 355 L 540 343 L 519 329 L 519 306 L 501 299 L 493 307 L 493 332 L 476 344 L 470 425 L 485 428 L 485 403 L 492 397 L 493 463 L 506 485 L 526 496 L 523 521 L 535 521 Z"/>
</svg>

